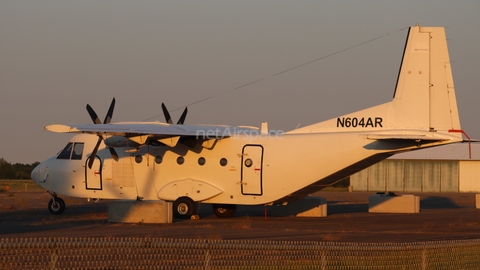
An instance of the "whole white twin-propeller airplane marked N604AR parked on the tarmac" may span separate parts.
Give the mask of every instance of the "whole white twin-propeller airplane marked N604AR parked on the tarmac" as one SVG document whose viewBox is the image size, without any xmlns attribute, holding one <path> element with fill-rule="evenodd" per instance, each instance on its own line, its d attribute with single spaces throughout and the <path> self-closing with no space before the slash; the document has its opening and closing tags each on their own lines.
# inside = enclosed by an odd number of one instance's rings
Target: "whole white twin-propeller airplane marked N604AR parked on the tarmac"
<svg viewBox="0 0 480 270">
<path fill-rule="evenodd" d="M 49 125 L 78 133 L 32 179 L 52 195 L 87 199 L 164 200 L 176 217 L 197 203 L 218 217 L 236 205 L 287 204 L 393 154 L 463 141 L 444 28 L 410 27 L 393 100 L 289 132 L 222 125 L 111 123 Z"/>
</svg>

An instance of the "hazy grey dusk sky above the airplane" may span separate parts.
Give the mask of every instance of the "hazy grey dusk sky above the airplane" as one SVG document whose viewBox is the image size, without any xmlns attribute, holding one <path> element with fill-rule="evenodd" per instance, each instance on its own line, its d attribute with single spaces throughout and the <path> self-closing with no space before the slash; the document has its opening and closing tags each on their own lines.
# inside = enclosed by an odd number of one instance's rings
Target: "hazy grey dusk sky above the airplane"
<svg viewBox="0 0 480 270">
<path fill-rule="evenodd" d="M 391 100 L 407 27 L 446 27 L 480 139 L 480 1 L 0 1 L 0 158 L 43 161 L 103 119 L 292 130 Z"/>
</svg>

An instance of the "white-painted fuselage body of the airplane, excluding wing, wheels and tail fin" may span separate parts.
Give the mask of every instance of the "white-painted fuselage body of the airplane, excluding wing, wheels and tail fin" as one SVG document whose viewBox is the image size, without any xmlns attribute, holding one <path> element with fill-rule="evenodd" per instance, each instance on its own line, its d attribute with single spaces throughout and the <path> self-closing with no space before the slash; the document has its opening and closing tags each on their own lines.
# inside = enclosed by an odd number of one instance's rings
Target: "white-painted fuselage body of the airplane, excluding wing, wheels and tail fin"
<svg viewBox="0 0 480 270">
<path fill-rule="evenodd" d="M 323 139 L 324 136 L 328 136 L 329 139 Z M 47 190 L 72 197 L 94 199 L 141 197 L 144 200 L 158 200 L 158 191 L 168 183 L 195 179 L 223 191 L 204 200 L 205 203 L 255 205 L 277 201 L 359 160 L 391 151 L 375 149 L 379 147 L 378 142 L 365 139 L 362 133 L 352 136 L 351 132 L 291 134 L 256 139 L 239 136 L 218 140 L 211 149 L 203 148 L 200 144 L 189 148 L 181 143 L 174 148 L 151 145 L 139 149 L 116 148 L 120 156 L 119 161 L 114 161 L 108 149 L 102 145 L 97 152 L 102 167 L 92 168 L 98 172 L 96 177 L 101 177 L 101 189 L 87 189 L 86 158 L 96 141 L 97 137 L 92 135 L 74 136 L 71 142 L 85 143 L 82 160 L 61 160 L 52 157 L 35 169 L 32 173 L 34 180 Z M 242 149 L 246 145 L 263 147 L 263 160 L 254 160 L 252 166 L 253 170 L 257 169 L 255 173 L 261 174 L 259 176 L 261 194 L 242 193 Z M 412 147 L 398 148 L 395 151 L 409 148 Z M 135 161 L 136 156 L 142 158 L 140 163 Z M 162 157 L 160 164 L 155 162 L 156 156 Z M 180 156 L 184 158 L 183 164 L 177 162 Z M 199 158 L 205 159 L 204 165 L 199 165 Z M 222 158 L 228 161 L 226 166 L 220 164 Z M 246 157 L 243 160 L 245 159 Z M 113 167 L 119 163 L 131 166 L 133 179 L 129 180 L 133 181 L 130 182 L 132 184 L 122 185 L 115 179 Z M 47 172 L 48 177 L 42 182 L 41 174 L 45 175 Z M 37 174 L 38 176 L 35 176 Z M 88 177 L 95 176 L 89 174 Z"/>
</svg>

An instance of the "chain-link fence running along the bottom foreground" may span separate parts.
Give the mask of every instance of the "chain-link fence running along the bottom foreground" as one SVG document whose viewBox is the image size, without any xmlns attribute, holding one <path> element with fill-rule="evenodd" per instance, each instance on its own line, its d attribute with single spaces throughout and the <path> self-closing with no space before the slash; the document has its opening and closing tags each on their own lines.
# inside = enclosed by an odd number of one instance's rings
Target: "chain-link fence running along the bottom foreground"
<svg viewBox="0 0 480 270">
<path fill-rule="evenodd" d="M 3 238 L 0 269 L 478 269 L 480 239 L 336 243 Z"/>
</svg>

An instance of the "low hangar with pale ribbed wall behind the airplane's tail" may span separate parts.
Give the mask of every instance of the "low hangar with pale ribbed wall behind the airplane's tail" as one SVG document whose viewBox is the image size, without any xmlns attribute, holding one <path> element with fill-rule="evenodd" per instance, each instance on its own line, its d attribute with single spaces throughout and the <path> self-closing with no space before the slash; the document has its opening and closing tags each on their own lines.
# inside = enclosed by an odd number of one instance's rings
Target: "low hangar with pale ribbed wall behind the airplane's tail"
<svg viewBox="0 0 480 270">
<path fill-rule="evenodd" d="M 350 186 L 353 191 L 480 192 L 480 143 L 397 154 L 351 175 Z"/>
</svg>

